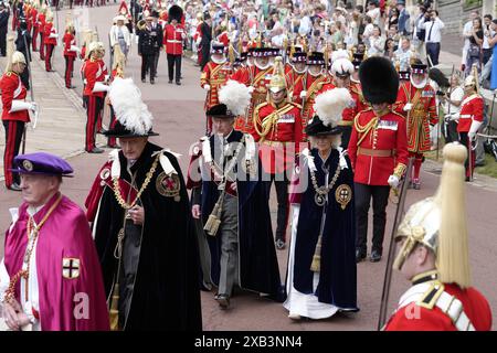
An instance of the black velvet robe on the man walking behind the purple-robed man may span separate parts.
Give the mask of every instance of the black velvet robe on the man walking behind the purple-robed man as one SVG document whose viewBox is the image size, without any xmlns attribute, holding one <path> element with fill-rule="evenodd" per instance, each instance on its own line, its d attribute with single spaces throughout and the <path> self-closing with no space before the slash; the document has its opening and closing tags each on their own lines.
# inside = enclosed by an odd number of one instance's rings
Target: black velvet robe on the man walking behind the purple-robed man
<svg viewBox="0 0 497 353">
<path fill-rule="evenodd" d="M 137 189 L 141 188 L 154 162 L 151 154 L 158 150 L 158 146 L 148 142 L 141 157 L 131 167 L 131 172 L 137 175 Z M 119 322 L 124 330 L 202 329 L 198 244 L 187 189 L 178 161 L 172 154 L 163 153 L 178 172 L 180 201 L 158 192 L 156 181 L 163 171 L 158 163 L 148 188 L 139 199 L 139 204 L 145 208 L 144 225 L 126 222 L 119 276 Z M 130 181 L 123 152 L 119 152 L 119 161 L 120 178 Z M 96 183 L 99 182 L 97 178 Z M 94 233 L 107 296 L 110 295 L 117 271 L 114 252 L 123 224 L 124 208 L 117 203 L 113 189 L 105 185 Z"/>
</svg>

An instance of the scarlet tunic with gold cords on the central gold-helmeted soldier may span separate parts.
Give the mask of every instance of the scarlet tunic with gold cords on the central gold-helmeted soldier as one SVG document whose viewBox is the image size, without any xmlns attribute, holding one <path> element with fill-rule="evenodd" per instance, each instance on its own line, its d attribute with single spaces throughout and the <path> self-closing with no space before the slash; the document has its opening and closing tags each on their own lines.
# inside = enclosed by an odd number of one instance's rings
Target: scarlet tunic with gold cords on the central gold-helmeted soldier
<svg viewBox="0 0 497 353">
<path fill-rule="evenodd" d="M 260 142 L 260 157 L 265 172 L 282 173 L 293 167 L 295 154 L 300 151 L 300 106 L 286 103 L 281 108 L 263 103 L 254 111 L 254 126 Z"/>
</svg>

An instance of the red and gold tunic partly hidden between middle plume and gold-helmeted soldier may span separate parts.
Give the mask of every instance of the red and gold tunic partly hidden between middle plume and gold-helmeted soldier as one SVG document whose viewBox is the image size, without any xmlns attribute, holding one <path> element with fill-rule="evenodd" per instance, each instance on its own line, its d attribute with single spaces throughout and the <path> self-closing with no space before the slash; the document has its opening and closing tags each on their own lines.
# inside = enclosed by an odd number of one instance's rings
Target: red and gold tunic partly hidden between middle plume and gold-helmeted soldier
<svg viewBox="0 0 497 353">
<path fill-rule="evenodd" d="M 267 99 L 267 84 L 271 81 L 272 72 L 273 67 L 261 69 L 254 65 L 244 69 L 239 69 L 230 77 L 231 79 L 237 81 L 246 86 L 254 87 L 246 116 L 239 117 L 236 119 L 236 130 L 256 136 L 253 124 L 254 110 L 260 104 L 266 101 Z"/>
</svg>

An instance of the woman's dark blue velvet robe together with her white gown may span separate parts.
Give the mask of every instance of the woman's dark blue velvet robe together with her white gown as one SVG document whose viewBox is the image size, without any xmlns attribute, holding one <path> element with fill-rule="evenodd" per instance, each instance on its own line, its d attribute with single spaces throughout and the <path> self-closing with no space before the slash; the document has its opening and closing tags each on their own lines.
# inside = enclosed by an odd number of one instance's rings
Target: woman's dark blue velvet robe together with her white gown
<svg viewBox="0 0 497 353">
<path fill-rule="evenodd" d="M 329 184 L 339 171 L 324 206 L 315 201 L 311 168 L 315 169 L 318 188 Z M 328 170 L 327 179 L 325 170 Z M 289 311 L 288 317 L 325 319 L 337 311 L 358 311 L 353 172 L 350 161 L 340 148 L 332 148 L 325 159 L 314 148 L 303 152 L 295 171 L 290 190 L 293 222 L 287 299 L 284 303 Z M 319 253 L 316 245 L 321 222 L 324 231 Z M 320 255 L 318 271 L 311 270 L 316 253 Z"/>
</svg>

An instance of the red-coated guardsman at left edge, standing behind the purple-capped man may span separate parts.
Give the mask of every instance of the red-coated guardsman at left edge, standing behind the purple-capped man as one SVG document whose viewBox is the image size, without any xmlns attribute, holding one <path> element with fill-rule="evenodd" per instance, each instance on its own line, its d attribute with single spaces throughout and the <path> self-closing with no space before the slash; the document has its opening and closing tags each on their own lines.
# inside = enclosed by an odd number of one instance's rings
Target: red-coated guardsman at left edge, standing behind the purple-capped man
<svg viewBox="0 0 497 353">
<path fill-rule="evenodd" d="M 13 51 L 13 38 L 7 42 L 7 71 L 0 81 L 2 93 L 2 122 L 6 129 L 6 150 L 3 151 L 3 175 L 7 189 L 21 191 L 18 174 L 12 174 L 12 163 L 19 154 L 24 125 L 30 122 L 30 110 L 35 111 L 34 101 L 25 101 L 27 89 L 21 81 L 21 74 L 27 66 L 21 52 Z M 24 136 L 25 138 L 25 136 Z"/>
</svg>

